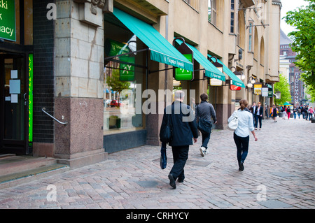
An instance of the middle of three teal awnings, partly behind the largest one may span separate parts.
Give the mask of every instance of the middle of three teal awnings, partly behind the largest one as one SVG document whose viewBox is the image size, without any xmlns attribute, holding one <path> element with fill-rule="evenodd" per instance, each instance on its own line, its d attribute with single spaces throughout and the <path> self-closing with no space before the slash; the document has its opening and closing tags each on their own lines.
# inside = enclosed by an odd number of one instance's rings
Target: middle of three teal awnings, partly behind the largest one
<svg viewBox="0 0 315 223">
<path fill-rule="evenodd" d="M 176 39 L 176 42 L 181 44 L 183 41 L 180 39 Z M 188 47 L 193 50 L 194 52 L 194 59 L 197 60 L 199 64 L 201 64 L 204 67 L 205 70 L 205 75 L 209 78 L 216 78 L 218 80 L 223 80 L 225 81 L 225 75 L 224 73 L 221 73 L 214 64 L 211 64 L 209 60 L 202 55 L 202 53 L 197 50 L 193 45 L 190 45 L 189 43 L 186 43 Z"/>
</svg>

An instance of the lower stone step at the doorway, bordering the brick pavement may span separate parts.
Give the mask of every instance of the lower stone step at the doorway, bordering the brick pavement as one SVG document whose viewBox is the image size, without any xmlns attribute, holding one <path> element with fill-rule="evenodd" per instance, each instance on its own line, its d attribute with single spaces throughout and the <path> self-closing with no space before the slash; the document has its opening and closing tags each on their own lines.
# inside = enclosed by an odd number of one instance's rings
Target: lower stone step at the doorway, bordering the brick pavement
<svg viewBox="0 0 315 223">
<path fill-rule="evenodd" d="M 41 166 L 38 168 L 31 168 L 27 171 L 20 171 L 18 173 L 10 173 L 8 175 L 0 175 L 0 189 L 14 187 L 25 182 L 46 178 L 50 175 L 63 173 L 70 168 L 64 164 L 51 164 L 48 166 Z"/>
</svg>

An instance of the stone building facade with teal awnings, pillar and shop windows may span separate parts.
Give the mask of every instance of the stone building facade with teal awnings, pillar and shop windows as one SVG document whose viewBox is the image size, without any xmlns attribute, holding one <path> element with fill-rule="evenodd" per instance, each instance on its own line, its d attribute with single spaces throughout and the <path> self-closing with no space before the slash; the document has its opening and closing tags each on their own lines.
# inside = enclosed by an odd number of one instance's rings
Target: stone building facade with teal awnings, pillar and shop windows
<svg viewBox="0 0 315 223">
<path fill-rule="evenodd" d="M 240 99 L 273 103 L 250 83 L 279 80 L 280 10 L 279 0 L 15 0 L 19 39 L 0 43 L 0 152 L 77 167 L 159 145 L 161 111 L 176 89 L 190 105 L 207 92 L 216 129 L 225 129 Z M 5 108 L 16 106 L 9 80 L 24 85 L 23 110 L 8 116 L 23 131 L 6 138 Z"/>
</svg>

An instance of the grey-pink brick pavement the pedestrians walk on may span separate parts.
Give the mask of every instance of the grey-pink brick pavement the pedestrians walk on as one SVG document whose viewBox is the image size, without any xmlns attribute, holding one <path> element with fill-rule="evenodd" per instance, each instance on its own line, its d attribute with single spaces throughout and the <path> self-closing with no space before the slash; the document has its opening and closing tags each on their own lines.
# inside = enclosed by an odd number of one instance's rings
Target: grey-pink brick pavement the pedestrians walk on
<svg viewBox="0 0 315 223">
<path fill-rule="evenodd" d="M 315 124 L 262 120 L 251 136 L 244 171 L 238 171 L 232 131 L 214 130 L 211 154 L 190 147 L 186 179 L 169 186 L 172 151 L 160 169 L 160 147 L 109 154 L 98 164 L 0 189 L 0 208 L 315 208 Z M 169 149 L 169 148 L 168 148 Z M 48 201 L 55 185 L 55 201 Z M 53 195 L 53 193 L 52 193 Z"/>
</svg>

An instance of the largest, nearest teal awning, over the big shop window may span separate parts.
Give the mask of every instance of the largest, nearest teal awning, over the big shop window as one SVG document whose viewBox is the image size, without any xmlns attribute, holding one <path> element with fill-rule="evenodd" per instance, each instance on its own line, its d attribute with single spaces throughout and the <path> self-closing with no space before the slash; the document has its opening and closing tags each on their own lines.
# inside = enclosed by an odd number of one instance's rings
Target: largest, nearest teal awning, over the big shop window
<svg viewBox="0 0 315 223">
<path fill-rule="evenodd" d="M 151 24 L 139 20 L 118 8 L 113 8 L 113 15 L 148 46 L 152 60 L 193 71 L 193 63 L 189 62 L 186 57 L 176 50 Z"/>
</svg>

